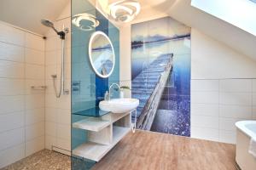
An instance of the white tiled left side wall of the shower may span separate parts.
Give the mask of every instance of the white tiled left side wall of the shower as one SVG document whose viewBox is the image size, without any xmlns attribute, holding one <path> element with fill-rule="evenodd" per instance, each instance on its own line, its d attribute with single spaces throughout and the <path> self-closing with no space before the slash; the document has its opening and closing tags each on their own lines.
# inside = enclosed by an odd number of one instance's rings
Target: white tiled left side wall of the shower
<svg viewBox="0 0 256 170">
<path fill-rule="evenodd" d="M 0 168 L 44 149 L 44 39 L 0 23 Z"/>
</svg>

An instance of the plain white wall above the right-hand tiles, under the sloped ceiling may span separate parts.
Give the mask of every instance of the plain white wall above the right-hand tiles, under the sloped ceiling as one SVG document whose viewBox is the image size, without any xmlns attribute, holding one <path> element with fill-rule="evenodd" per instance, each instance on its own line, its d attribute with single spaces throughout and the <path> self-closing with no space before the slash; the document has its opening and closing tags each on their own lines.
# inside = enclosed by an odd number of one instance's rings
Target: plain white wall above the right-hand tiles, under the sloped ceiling
<svg viewBox="0 0 256 170">
<path fill-rule="evenodd" d="M 193 79 L 256 78 L 256 62 L 201 31 L 191 31 Z"/>
</svg>

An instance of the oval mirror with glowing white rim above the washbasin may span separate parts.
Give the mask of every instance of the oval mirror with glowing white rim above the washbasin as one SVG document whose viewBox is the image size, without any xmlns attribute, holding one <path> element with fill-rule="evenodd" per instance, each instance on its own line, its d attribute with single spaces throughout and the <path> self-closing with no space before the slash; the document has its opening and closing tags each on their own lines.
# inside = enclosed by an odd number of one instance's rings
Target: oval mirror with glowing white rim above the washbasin
<svg viewBox="0 0 256 170">
<path fill-rule="evenodd" d="M 102 31 L 94 32 L 89 42 L 90 65 L 96 75 L 102 78 L 110 77 L 115 64 L 113 44 Z"/>
</svg>

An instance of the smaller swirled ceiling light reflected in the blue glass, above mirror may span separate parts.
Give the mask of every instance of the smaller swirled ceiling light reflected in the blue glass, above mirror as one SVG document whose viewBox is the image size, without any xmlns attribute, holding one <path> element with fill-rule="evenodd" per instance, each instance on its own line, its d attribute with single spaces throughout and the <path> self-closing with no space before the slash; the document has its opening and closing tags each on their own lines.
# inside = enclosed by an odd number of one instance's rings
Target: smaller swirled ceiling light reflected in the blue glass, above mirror
<svg viewBox="0 0 256 170">
<path fill-rule="evenodd" d="M 72 24 L 82 31 L 91 31 L 100 25 L 100 21 L 92 14 L 82 13 L 73 16 Z"/>
</svg>

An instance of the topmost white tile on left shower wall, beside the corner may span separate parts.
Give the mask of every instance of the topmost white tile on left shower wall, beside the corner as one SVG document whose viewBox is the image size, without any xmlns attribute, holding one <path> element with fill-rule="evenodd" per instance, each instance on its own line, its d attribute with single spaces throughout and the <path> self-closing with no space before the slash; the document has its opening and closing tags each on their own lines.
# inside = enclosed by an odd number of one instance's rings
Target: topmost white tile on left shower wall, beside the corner
<svg viewBox="0 0 256 170">
<path fill-rule="evenodd" d="M 36 35 L 26 33 L 25 47 L 44 51 L 44 39 Z"/>
</svg>

